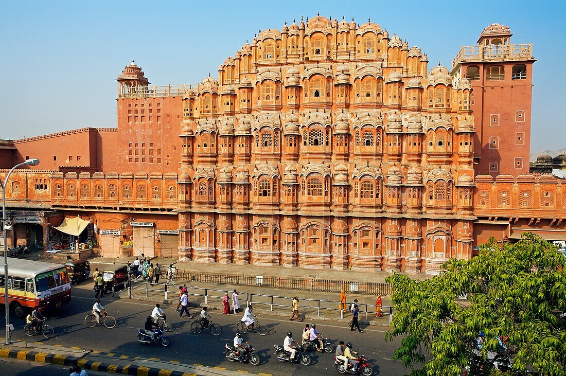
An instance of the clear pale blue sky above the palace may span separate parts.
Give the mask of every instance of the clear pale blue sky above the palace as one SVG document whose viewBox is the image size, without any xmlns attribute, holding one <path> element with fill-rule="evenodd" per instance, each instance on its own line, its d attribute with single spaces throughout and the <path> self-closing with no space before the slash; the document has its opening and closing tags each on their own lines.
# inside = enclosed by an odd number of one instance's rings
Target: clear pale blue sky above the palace
<svg viewBox="0 0 566 376">
<path fill-rule="evenodd" d="M 534 43 L 531 152 L 566 147 L 566 3 L 559 1 L 0 2 L 0 139 L 115 127 L 117 83 L 135 59 L 152 84 L 197 83 L 259 29 L 301 15 L 372 22 L 451 67 L 490 23 Z"/>
</svg>

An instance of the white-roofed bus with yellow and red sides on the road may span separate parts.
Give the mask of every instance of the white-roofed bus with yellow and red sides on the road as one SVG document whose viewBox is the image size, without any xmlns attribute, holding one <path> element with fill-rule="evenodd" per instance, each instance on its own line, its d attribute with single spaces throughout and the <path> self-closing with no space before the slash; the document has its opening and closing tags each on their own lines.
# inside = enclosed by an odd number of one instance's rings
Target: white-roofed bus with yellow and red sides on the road
<svg viewBox="0 0 566 376">
<path fill-rule="evenodd" d="M 0 304 L 5 301 L 4 270 L 0 270 Z M 22 318 L 38 306 L 48 312 L 71 301 L 71 283 L 63 265 L 8 257 L 8 297 L 14 316 Z"/>
</svg>

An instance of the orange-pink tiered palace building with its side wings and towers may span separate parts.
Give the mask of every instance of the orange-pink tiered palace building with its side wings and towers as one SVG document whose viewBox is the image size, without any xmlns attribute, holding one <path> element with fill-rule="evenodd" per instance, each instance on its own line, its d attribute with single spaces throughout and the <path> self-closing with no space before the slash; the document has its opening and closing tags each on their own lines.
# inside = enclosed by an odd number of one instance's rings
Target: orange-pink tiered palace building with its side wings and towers
<svg viewBox="0 0 566 376">
<path fill-rule="evenodd" d="M 490 236 L 566 239 L 566 187 L 528 174 L 535 60 L 510 38 L 492 24 L 429 68 L 370 20 L 316 16 L 195 85 L 132 61 L 117 128 L 0 144 L 1 167 L 41 159 L 8 182 L 8 243 L 47 252 L 78 215 L 102 256 L 437 274 Z"/>
</svg>

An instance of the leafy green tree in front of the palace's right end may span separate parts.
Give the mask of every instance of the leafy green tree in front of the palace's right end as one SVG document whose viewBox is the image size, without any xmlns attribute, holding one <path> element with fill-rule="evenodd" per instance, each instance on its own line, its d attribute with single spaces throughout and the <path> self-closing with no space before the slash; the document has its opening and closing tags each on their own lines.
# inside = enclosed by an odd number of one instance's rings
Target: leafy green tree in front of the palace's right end
<svg viewBox="0 0 566 376">
<path fill-rule="evenodd" d="M 478 256 L 449 260 L 429 280 L 394 273 L 388 338 L 402 336 L 395 360 L 411 375 L 566 374 L 565 263 L 552 243 L 525 233 L 515 244 L 490 239 Z M 505 358 L 511 368 L 494 370 Z"/>
</svg>

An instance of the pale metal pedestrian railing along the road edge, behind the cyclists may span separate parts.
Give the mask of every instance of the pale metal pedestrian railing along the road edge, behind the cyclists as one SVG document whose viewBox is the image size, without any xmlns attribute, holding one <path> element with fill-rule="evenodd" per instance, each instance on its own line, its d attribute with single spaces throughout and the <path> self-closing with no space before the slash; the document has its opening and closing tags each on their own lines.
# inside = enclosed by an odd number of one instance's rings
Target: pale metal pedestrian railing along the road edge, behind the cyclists
<svg viewBox="0 0 566 376">
<path fill-rule="evenodd" d="M 145 297 L 152 297 L 154 299 L 163 298 L 177 299 L 179 293 L 179 285 L 176 284 L 162 284 L 153 283 L 153 286 L 149 281 L 138 281 L 131 279 L 126 283 L 128 287 L 128 299 L 131 299 L 132 294 L 136 295 L 136 291 L 139 291 L 143 295 L 145 292 Z M 218 304 L 220 305 L 224 294 L 230 291 L 218 289 L 218 288 L 204 288 L 204 287 L 192 287 L 187 286 L 187 295 L 189 296 L 199 296 L 204 298 L 204 304 Z M 333 291 L 335 292 L 335 291 Z M 138 294 L 139 294 L 138 293 Z M 269 306 L 269 310 L 273 312 L 275 309 L 291 308 L 289 304 L 293 297 L 289 296 L 277 296 L 277 295 L 266 295 L 260 293 L 251 292 L 239 292 L 239 300 L 242 307 L 254 304 L 255 306 Z M 316 311 L 316 316 L 320 316 L 321 313 L 337 313 L 340 314 L 340 318 L 344 318 L 345 313 L 349 311 L 341 310 L 340 301 L 322 300 L 322 299 L 301 299 L 301 309 Z M 245 304 L 243 304 L 245 302 Z M 349 309 L 351 303 L 346 303 L 346 309 Z M 373 304 L 363 304 L 359 303 L 358 308 L 360 310 L 360 316 L 365 316 L 366 321 L 368 317 L 375 316 L 375 305 Z M 388 318 L 391 323 L 393 318 L 393 307 L 391 306 L 381 306 L 383 310 L 383 317 Z"/>
</svg>

